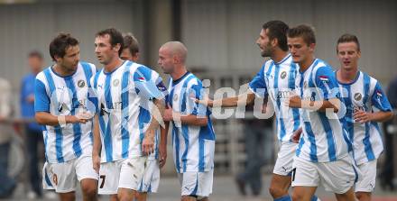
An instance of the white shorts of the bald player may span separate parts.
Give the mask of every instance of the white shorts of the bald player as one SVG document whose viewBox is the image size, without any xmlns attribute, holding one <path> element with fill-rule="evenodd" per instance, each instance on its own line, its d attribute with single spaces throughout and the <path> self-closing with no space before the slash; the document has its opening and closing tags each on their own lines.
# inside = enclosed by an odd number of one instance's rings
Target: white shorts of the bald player
<svg viewBox="0 0 397 201">
<path fill-rule="evenodd" d="M 214 169 L 206 172 L 178 173 L 181 186 L 181 196 L 198 196 L 198 199 L 212 193 Z"/>
</svg>

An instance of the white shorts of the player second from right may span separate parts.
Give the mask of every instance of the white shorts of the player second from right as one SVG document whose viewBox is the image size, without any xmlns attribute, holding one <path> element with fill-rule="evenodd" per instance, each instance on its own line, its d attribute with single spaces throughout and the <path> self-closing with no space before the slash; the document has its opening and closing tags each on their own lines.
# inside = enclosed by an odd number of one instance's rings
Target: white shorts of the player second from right
<svg viewBox="0 0 397 201">
<path fill-rule="evenodd" d="M 319 183 L 336 194 L 344 194 L 354 186 L 358 170 L 353 159 L 346 157 L 331 162 L 311 162 L 295 157 L 292 170 L 292 187 L 319 187 Z"/>
</svg>

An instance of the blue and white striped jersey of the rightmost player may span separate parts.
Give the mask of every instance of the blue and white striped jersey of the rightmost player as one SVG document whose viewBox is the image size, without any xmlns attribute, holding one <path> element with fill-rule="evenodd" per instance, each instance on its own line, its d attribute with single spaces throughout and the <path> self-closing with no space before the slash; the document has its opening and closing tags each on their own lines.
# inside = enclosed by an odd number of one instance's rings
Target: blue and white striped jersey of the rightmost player
<svg viewBox="0 0 397 201">
<path fill-rule="evenodd" d="M 382 136 L 376 122 L 355 123 L 355 110 L 367 113 L 376 111 L 392 111 L 387 97 L 379 82 L 358 71 L 355 81 L 349 84 L 339 82 L 342 100 L 346 106 L 344 127 L 353 143 L 355 163 L 360 165 L 370 160 L 376 160 L 383 151 Z"/>
</svg>

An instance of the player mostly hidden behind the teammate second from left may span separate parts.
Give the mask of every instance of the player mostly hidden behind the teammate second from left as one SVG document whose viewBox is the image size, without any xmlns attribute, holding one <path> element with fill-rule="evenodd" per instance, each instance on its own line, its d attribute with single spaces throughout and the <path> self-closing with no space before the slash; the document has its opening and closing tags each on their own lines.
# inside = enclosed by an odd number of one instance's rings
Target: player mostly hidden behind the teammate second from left
<svg viewBox="0 0 397 201">
<path fill-rule="evenodd" d="M 131 60 L 138 62 L 139 59 L 139 43 L 132 34 L 126 34 L 124 36 L 124 48 L 120 56 L 121 59 Z M 154 71 L 152 73 L 152 79 L 156 81 L 156 85 L 163 93 L 166 93 L 167 89 L 162 83 L 162 78 Z M 158 132 L 156 131 L 155 136 L 155 149 L 154 152 L 148 157 L 146 169 L 144 171 L 143 179 L 139 185 L 139 194 L 135 195 L 135 198 L 139 201 L 146 200 L 147 193 L 156 193 L 160 182 L 160 168 L 162 168 L 167 160 L 167 131 L 163 127 L 160 128 L 160 146 L 158 146 Z M 160 154 L 160 156 L 159 156 Z"/>
</svg>

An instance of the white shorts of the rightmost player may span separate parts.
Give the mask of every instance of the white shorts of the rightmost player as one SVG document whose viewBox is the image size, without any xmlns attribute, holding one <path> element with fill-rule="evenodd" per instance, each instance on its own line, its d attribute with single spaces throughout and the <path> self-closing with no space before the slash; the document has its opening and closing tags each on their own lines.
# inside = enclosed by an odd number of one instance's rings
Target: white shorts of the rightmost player
<svg viewBox="0 0 397 201">
<path fill-rule="evenodd" d="M 371 160 L 358 165 L 362 174 L 361 180 L 355 183 L 355 192 L 373 192 L 376 180 L 377 160 Z"/>
</svg>

